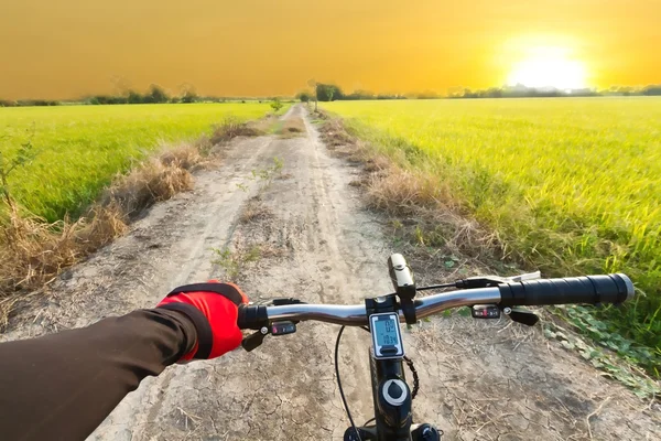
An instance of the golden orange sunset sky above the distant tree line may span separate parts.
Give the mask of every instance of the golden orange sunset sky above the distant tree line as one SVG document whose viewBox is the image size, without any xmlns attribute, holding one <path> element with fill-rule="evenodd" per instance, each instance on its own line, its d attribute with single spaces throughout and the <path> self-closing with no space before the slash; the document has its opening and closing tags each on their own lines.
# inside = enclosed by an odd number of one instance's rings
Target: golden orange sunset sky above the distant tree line
<svg viewBox="0 0 661 441">
<path fill-rule="evenodd" d="M 556 65 L 581 72 L 567 84 L 646 85 L 660 23 L 661 0 L 0 0 L 0 99 L 293 95 L 311 78 L 446 93 Z"/>
</svg>

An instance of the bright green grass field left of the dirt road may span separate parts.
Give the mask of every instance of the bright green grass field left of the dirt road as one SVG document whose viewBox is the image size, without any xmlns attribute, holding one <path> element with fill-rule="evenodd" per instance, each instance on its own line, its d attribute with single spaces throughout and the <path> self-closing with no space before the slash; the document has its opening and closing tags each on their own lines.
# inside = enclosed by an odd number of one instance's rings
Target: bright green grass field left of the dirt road
<svg viewBox="0 0 661 441">
<path fill-rule="evenodd" d="M 53 222 L 77 215 L 112 175 L 163 143 L 193 140 L 231 117 L 264 116 L 269 104 L 0 108 L 0 151 L 32 142 L 37 155 L 10 175 L 12 195 Z"/>
</svg>

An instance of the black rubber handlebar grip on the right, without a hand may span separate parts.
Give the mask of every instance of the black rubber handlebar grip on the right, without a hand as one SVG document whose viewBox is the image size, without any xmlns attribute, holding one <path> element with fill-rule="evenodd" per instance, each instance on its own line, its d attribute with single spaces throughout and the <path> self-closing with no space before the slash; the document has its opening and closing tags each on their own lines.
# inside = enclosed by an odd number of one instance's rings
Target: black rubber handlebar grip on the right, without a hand
<svg viewBox="0 0 661 441">
<path fill-rule="evenodd" d="M 501 283 L 500 304 L 523 306 L 567 303 L 622 303 L 633 298 L 633 283 L 626 275 L 567 277 Z"/>
</svg>

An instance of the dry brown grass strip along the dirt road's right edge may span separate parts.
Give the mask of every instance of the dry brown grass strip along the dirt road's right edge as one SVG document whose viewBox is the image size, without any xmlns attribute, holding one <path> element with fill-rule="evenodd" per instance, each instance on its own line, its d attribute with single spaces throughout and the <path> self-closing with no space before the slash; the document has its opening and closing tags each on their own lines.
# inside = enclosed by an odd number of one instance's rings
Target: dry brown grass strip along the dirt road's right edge
<svg viewBox="0 0 661 441">
<path fill-rule="evenodd" d="M 368 203 L 395 220 L 397 235 L 447 255 L 495 260 L 502 251 L 497 236 L 463 214 L 451 189 L 433 175 L 397 165 L 348 133 L 342 120 L 326 118 L 321 133 L 334 154 L 364 165 L 365 174 L 350 185 L 367 190 Z"/>
</svg>

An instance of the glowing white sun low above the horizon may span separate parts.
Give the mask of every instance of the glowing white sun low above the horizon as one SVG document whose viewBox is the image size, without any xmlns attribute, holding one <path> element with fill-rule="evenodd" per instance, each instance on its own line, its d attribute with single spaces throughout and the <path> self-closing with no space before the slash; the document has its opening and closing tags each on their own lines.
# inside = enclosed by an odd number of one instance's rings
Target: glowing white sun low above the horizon
<svg viewBox="0 0 661 441">
<path fill-rule="evenodd" d="M 512 66 L 508 77 L 510 86 L 556 89 L 581 89 L 587 87 L 584 63 L 570 56 L 562 47 L 534 47 Z"/>
</svg>

